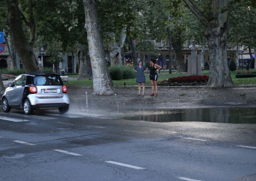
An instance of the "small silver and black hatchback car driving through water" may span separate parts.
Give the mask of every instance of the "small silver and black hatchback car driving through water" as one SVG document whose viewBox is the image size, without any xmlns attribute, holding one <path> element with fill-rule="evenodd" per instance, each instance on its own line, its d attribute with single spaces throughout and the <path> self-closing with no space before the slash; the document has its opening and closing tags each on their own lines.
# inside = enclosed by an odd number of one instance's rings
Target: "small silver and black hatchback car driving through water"
<svg viewBox="0 0 256 181">
<path fill-rule="evenodd" d="M 59 109 L 65 113 L 69 108 L 67 87 L 58 74 L 28 73 L 15 78 L 2 96 L 2 109 L 23 109 L 29 115 L 39 109 Z"/>
</svg>

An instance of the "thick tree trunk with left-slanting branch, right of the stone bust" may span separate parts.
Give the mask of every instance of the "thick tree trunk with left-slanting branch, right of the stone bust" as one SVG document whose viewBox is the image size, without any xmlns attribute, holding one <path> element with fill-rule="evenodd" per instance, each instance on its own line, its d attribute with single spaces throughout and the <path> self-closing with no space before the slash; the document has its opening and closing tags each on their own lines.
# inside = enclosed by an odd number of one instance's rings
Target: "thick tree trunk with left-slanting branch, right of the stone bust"
<svg viewBox="0 0 256 181">
<path fill-rule="evenodd" d="M 205 25 L 205 38 L 209 47 L 209 80 L 207 87 L 232 87 L 234 83 L 230 76 L 227 56 L 227 29 L 229 10 L 224 11 L 229 0 L 212 1 L 212 17 L 209 21 L 196 7 L 192 0 L 183 0 L 190 11 Z"/>
</svg>

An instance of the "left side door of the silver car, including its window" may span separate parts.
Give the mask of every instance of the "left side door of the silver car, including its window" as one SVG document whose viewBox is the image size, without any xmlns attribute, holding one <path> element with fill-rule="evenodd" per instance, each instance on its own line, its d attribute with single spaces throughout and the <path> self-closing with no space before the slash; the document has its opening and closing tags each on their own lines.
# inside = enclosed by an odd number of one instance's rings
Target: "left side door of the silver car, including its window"
<svg viewBox="0 0 256 181">
<path fill-rule="evenodd" d="M 8 99 L 9 104 L 12 105 L 20 105 L 22 100 L 22 95 L 24 92 L 24 86 L 26 84 L 26 76 L 20 75 L 16 77 L 16 79 L 12 83 L 12 87 L 8 91 Z"/>
</svg>

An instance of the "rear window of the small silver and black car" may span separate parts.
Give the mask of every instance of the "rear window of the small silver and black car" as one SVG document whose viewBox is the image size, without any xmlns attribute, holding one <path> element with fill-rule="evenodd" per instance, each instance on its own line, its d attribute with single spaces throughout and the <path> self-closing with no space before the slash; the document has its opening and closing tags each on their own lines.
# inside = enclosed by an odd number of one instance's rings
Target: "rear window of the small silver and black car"
<svg viewBox="0 0 256 181">
<path fill-rule="evenodd" d="M 46 75 L 46 76 L 36 76 L 34 79 L 34 84 L 38 85 L 62 85 L 60 76 Z"/>
</svg>

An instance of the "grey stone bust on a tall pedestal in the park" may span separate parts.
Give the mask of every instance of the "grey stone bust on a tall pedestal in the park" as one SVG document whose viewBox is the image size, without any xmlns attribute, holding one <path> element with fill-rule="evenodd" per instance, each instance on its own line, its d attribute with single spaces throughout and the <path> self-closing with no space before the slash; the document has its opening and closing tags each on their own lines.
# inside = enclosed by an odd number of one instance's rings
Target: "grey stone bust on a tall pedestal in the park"
<svg viewBox="0 0 256 181">
<path fill-rule="evenodd" d="M 201 76 L 201 57 L 196 54 L 196 49 L 199 46 L 196 45 L 195 40 L 192 40 L 192 45 L 188 48 L 191 49 L 191 55 L 188 55 L 188 76 Z"/>
</svg>

